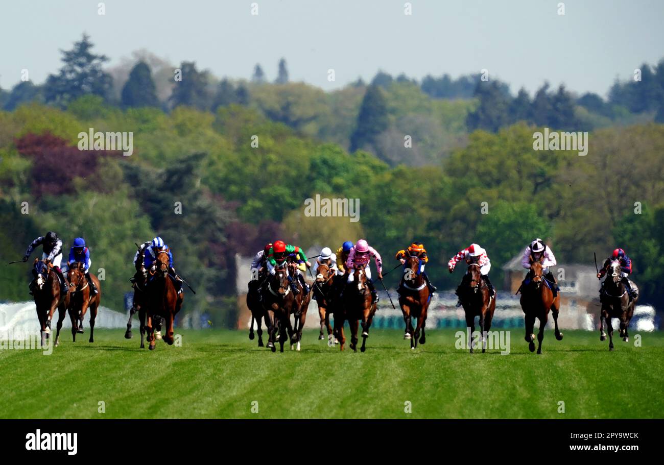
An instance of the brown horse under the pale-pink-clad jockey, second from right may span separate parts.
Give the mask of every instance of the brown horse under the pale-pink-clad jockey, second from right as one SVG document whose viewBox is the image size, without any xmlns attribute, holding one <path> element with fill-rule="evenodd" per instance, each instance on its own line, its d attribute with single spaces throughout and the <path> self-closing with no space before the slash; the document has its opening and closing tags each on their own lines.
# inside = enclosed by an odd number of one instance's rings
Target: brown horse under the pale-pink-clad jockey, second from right
<svg viewBox="0 0 664 465">
<path fill-rule="evenodd" d="M 549 310 L 553 314 L 553 321 L 555 324 L 555 334 L 557 340 L 562 340 L 562 332 L 558 329 L 558 311 L 560 310 L 560 294 L 556 295 L 556 298 L 553 298 L 553 293 L 548 286 L 543 285 L 546 278 L 543 277 L 543 267 L 542 263 L 539 261 L 533 261 L 531 257 L 531 271 L 530 271 L 530 283 L 524 285 L 521 288 L 521 308 L 525 314 L 526 322 L 526 336 L 525 340 L 528 343 L 528 348 L 531 352 L 535 352 L 535 318 L 538 318 L 540 321 L 540 329 L 537 334 L 537 340 L 539 346 L 537 347 L 537 353 L 542 353 L 542 340 L 544 340 L 544 328 L 546 327 L 546 321 L 548 320 Z M 556 283 L 550 283 L 550 285 L 555 286 Z"/>
</svg>

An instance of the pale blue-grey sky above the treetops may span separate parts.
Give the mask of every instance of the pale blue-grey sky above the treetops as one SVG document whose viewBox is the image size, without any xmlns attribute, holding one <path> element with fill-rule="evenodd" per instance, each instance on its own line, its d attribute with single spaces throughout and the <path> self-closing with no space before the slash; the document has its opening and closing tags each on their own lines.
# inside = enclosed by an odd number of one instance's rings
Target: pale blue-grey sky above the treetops
<svg viewBox="0 0 664 465">
<path fill-rule="evenodd" d="M 84 31 L 110 66 L 145 48 L 219 77 L 249 78 L 258 62 L 272 80 L 284 56 L 291 80 L 325 90 L 378 69 L 420 80 L 486 68 L 512 92 L 548 80 L 604 95 L 617 76 L 664 57 L 664 1 L 567 0 L 559 16 L 560 1 L 412 0 L 406 16 L 404 0 L 108 0 L 100 16 L 99 0 L 4 0 L 0 86 L 17 84 L 22 68 L 43 82 Z"/>
</svg>

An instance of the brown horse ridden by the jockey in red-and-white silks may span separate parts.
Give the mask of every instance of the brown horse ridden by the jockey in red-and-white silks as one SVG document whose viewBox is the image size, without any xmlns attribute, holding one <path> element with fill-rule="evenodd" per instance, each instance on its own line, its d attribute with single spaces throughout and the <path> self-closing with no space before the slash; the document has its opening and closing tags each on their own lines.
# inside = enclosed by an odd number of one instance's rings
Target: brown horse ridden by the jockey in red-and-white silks
<svg viewBox="0 0 664 465">
<path fill-rule="evenodd" d="M 470 263 L 463 279 L 465 286 L 459 289 L 459 300 L 465 312 L 465 324 L 470 328 L 470 334 L 475 332 L 475 316 L 479 316 L 479 330 L 481 332 L 482 352 L 487 350 L 487 333 L 491 329 L 493 312 L 496 309 L 496 299 L 491 295 L 487 283 L 482 279 L 480 267 L 477 263 Z M 468 338 L 468 348 L 473 353 L 473 343 Z"/>
</svg>

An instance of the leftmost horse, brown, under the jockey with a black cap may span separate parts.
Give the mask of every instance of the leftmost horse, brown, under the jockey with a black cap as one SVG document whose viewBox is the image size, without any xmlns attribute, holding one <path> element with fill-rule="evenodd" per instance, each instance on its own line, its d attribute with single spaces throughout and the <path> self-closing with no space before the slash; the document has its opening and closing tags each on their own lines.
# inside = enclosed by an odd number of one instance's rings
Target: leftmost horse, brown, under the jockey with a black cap
<svg viewBox="0 0 664 465">
<path fill-rule="evenodd" d="M 50 320 L 53 318 L 53 312 L 58 308 L 58 323 L 55 336 L 55 346 L 60 344 L 60 329 L 62 321 L 66 314 L 67 294 L 60 293 L 60 280 L 58 274 L 52 269 L 48 260 L 35 259 L 33 263 L 34 271 L 37 275 L 35 286 L 33 287 L 33 297 L 37 307 L 37 318 L 39 319 L 39 330 L 41 334 L 41 344 L 44 346 L 46 339 L 50 336 Z"/>
</svg>

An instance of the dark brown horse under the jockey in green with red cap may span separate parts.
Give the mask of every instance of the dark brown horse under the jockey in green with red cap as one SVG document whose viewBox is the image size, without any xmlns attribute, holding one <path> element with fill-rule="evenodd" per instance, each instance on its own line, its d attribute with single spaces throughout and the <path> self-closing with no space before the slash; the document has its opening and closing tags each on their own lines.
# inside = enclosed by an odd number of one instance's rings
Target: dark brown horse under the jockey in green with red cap
<svg viewBox="0 0 664 465">
<path fill-rule="evenodd" d="M 284 352 L 284 343 L 288 336 L 293 334 L 293 328 L 290 322 L 290 312 L 293 308 L 295 297 L 291 292 L 290 281 L 288 281 L 288 263 L 284 261 L 282 265 L 277 265 L 274 275 L 268 278 L 266 289 L 263 293 L 263 308 L 268 316 L 270 324 L 268 325 L 268 348 L 276 352 L 274 345 L 274 336 L 279 330 L 280 352 Z M 288 330 L 288 334 L 287 331 Z"/>
</svg>

